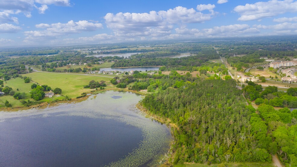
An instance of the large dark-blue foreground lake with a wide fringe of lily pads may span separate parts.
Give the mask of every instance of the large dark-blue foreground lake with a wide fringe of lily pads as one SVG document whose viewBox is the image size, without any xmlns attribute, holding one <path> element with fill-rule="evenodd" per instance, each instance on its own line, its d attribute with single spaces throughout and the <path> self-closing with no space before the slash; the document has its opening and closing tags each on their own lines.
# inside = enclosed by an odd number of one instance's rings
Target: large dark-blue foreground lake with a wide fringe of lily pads
<svg viewBox="0 0 297 167">
<path fill-rule="evenodd" d="M 155 165 L 172 137 L 135 108 L 141 99 L 107 91 L 79 103 L 0 112 L 0 166 Z"/>
</svg>

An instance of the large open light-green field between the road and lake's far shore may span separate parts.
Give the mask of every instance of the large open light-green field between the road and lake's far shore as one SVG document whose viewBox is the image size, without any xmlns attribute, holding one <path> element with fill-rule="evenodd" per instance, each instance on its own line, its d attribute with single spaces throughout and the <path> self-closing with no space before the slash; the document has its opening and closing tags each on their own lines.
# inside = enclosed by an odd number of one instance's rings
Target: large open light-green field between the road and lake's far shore
<svg viewBox="0 0 297 167">
<path fill-rule="evenodd" d="M 87 75 L 75 75 L 66 73 L 42 73 L 34 72 L 24 74 L 32 78 L 32 81 L 37 82 L 41 85 L 48 85 L 52 89 L 56 87 L 62 89 L 62 94 L 69 98 L 76 98 L 83 92 L 90 92 L 90 89 L 83 88 L 88 85 L 91 80 L 100 82 L 101 80 L 109 81 L 112 77 L 98 77 L 98 76 L 87 76 Z"/>
</svg>

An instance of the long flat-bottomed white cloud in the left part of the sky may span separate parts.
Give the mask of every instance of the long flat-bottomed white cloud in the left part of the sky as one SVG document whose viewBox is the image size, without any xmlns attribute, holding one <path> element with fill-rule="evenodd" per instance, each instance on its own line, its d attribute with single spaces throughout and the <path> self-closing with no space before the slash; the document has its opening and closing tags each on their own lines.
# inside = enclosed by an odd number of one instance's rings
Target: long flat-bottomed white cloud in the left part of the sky
<svg viewBox="0 0 297 167">
<path fill-rule="evenodd" d="M 44 28 L 45 30 L 40 31 L 25 31 L 24 34 L 26 41 L 29 40 L 44 40 L 44 39 L 55 39 L 57 36 L 65 36 L 68 34 L 81 33 L 83 31 L 95 31 L 102 28 L 100 23 L 91 23 L 86 20 L 74 22 L 70 20 L 67 23 L 54 23 L 54 24 L 37 24 L 37 28 Z"/>
</svg>

